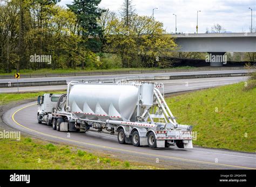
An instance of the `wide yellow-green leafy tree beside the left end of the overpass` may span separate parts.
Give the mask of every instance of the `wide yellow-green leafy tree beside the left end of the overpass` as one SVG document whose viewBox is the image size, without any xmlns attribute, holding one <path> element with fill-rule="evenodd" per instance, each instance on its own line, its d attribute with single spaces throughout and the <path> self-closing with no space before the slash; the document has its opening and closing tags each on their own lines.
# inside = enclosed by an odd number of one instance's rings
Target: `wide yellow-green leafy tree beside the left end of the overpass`
<svg viewBox="0 0 256 187">
<path fill-rule="evenodd" d="M 129 27 L 124 20 L 114 19 L 108 26 L 105 51 L 121 56 L 123 67 L 166 67 L 164 56 L 176 47 L 173 38 L 166 34 L 163 23 L 152 17 L 132 16 Z"/>
</svg>

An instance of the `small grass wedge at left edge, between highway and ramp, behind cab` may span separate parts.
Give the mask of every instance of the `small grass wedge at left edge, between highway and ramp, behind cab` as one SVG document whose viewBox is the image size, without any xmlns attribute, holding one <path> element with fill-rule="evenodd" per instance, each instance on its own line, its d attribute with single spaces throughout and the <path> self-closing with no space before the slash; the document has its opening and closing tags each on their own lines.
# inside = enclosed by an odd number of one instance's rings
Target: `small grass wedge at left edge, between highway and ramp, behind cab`
<svg viewBox="0 0 256 187">
<path fill-rule="evenodd" d="M 48 92 L 42 91 L 42 92 L 33 92 L 33 93 L 0 93 L 0 105 L 4 105 L 9 102 L 24 100 L 24 99 L 35 98 L 36 100 L 39 95 L 43 95 L 44 93 L 48 93 Z M 64 93 L 64 92 L 59 91 L 58 93 Z"/>
</svg>

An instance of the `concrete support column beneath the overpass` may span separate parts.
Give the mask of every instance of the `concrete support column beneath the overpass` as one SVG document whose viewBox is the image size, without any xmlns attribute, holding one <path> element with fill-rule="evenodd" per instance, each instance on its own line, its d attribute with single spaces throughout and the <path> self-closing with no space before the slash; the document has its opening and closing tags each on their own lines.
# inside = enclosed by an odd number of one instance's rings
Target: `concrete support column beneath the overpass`
<svg viewBox="0 0 256 187">
<path fill-rule="evenodd" d="M 227 62 L 226 52 L 208 52 L 206 62 L 210 63 L 211 67 L 222 67 Z"/>
</svg>

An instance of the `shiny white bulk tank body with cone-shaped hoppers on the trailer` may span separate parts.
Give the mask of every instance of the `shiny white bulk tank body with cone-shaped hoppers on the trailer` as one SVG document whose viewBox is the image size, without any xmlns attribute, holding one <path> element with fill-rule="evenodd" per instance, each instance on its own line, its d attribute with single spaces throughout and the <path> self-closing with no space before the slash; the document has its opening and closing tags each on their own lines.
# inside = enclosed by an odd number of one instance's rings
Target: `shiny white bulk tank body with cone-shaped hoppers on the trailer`
<svg viewBox="0 0 256 187">
<path fill-rule="evenodd" d="M 75 84 L 68 97 L 71 112 L 79 118 L 129 121 L 138 103 L 139 86 Z"/>
</svg>

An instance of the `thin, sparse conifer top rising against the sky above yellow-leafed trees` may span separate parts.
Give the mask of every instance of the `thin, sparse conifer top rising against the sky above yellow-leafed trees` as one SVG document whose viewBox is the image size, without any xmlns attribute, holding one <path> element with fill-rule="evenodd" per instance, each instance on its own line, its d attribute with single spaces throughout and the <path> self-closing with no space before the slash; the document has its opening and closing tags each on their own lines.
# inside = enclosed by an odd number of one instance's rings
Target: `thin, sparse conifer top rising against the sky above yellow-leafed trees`
<svg viewBox="0 0 256 187">
<path fill-rule="evenodd" d="M 132 5 L 132 0 L 124 0 L 120 14 L 126 26 L 129 26 L 131 24 L 131 19 L 134 15 L 134 12 L 135 9 Z"/>
</svg>

